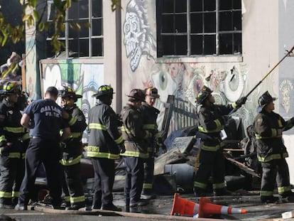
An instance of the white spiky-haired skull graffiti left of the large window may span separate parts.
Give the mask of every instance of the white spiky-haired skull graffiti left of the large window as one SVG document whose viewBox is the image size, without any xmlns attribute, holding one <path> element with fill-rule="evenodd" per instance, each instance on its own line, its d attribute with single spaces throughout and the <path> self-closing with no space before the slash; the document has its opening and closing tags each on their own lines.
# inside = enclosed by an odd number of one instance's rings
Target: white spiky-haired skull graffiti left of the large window
<svg viewBox="0 0 294 221">
<path fill-rule="evenodd" d="M 153 58 L 150 50 L 155 50 L 156 43 L 147 23 L 144 1 L 131 0 L 126 6 L 124 21 L 124 45 L 126 57 L 129 58 L 131 71 L 134 72 L 140 63 L 141 56 Z"/>
</svg>

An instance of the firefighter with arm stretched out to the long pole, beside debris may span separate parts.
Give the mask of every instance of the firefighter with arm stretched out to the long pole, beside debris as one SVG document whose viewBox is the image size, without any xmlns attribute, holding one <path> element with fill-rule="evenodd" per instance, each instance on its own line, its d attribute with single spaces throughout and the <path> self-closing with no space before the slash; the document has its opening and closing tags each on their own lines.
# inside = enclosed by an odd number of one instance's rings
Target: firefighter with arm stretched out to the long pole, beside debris
<svg viewBox="0 0 294 221">
<path fill-rule="evenodd" d="M 207 181 L 212 176 L 212 188 L 214 195 L 227 195 L 229 191 L 224 184 L 224 142 L 221 138 L 221 131 L 228 121 L 229 112 L 236 107 L 241 107 L 246 102 L 246 97 L 241 97 L 233 104 L 217 105 L 212 96 L 212 90 L 203 86 L 196 97 L 200 107 L 198 113 L 198 130 L 207 135 L 200 145 L 199 167 L 194 179 L 195 196 L 207 194 Z"/>
</svg>

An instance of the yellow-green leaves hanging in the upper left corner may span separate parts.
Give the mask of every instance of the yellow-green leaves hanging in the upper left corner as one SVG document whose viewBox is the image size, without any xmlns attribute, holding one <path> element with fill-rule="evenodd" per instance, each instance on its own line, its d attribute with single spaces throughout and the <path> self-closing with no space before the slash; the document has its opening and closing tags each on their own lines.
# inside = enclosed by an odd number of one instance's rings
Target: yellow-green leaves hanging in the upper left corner
<svg viewBox="0 0 294 221">
<path fill-rule="evenodd" d="M 45 13 L 48 4 L 45 1 L 45 6 L 43 10 L 36 10 L 38 0 L 19 0 L 23 6 L 23 23 L 18 24 L 18 26 L 11 26 L 11 24 L 6 23 L 4 15 L 0 11 L 0 45 L 3 47 L 8 41 L 13 43 L 18 43 L 25 38 L 25 28 L 36 26 L 36 31 L 48 31 L 48 23 L 43 21 L 43 14 Z M 55 16 L 53 22 L 55 23 L 55 33 L 51 37 L 51 44 L 53 45 L 55 53 L 60 52 L 64 46 L 62 42 L 58 40 L 61 33 L 65 31 L 65 11 L 70 8 L 72 2 L 78 2 L 80 0 L 53 0 L 53 5 L 55 6 Z M 115 11 L 117 7 L 120 6 L 119 0 L 110 0 L 111 10 Z M 1 6 L 1 5 L 0 5 Z M 86 25 L 89 27 L 89 25 Z M 79 23 L 70 23 L 70 28 L 76 28 L 80 30 L 81 26 Z"/>
</svg>

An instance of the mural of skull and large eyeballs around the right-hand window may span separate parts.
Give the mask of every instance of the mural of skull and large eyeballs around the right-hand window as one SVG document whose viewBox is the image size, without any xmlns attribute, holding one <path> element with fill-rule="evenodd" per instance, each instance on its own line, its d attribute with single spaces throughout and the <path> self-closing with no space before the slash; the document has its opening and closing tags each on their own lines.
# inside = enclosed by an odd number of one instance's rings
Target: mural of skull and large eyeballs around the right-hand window
<svg viewBox="0 0 294 221">
<path fill-rule="evenodd" d="M 232 104 L 239 97 L 246 95 L 249 73 L 246 64 L 187 63 L 178 58 L 167 58 L 166 61 L 160 59 L 158 62 L 156 43 L 152 35 L 156 33 L 156 6 L 152 1 L 131 0 L 128 1 L 125 9 L 123 32 L 126 58 L 122 59 L 123 65 L 129 65 L 125 67 L 122 87 L 125 94 L 132 88 L 144 89 L 149 86 L 158 88 L 160 98 L 155 105 L 160 109 L 159 127 L 163 123 L 168 95 L 175 95 L 187 101 L 187 108 L 190 104 L 195 105 L 195 96 L 203 85 L 214 90 L 218 104 Z M 146 56 L 142 56 L 144 54 Z M 258 95 L 258 90 L 253 94 Z M 256 112 L 256 104 L 256 96 L 251 96 L 246 105 L 234 115 L 242 117 L 244 124 L 251 124 Z"/>
</svg>

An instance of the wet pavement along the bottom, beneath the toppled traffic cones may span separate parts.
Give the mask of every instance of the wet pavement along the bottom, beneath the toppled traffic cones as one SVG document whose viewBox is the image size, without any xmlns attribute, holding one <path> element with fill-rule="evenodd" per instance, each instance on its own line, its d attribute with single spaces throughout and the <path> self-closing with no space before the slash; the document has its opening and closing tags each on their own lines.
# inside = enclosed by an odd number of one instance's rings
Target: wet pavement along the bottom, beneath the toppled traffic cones
<svg viewBox="0 0 294 221">
<path fill-rule="evenodd" d="M 199 203 L 199 198 L 192 194 L 180 194 L 180 198 L 189 200 L 192 203 Z M 224 205 L 233 208 L 246 210 L 245 214 L 211 215 L 197 220 L 283 220 L 282 213 L 294 209 L 294 203 L 280 202 L 277 204 L 263 204 L 259 200 L 258 191 L 235 191 L 229 196 L 207 196 L 213 205 Z M 65 211 L 44 209 L 35 207 L 35 210 L 16 211 L 0 209 L 0 214 L 8 215 L 14 220 L 195 220 L 187 216 L 170 216 L 173 207 L 173 195 L 158 195 L 156 199 L 150 200 L 149 204 L 143 207 L 136 207 L 127 210 L 124 204 L 123 193 L 114 193 L 114 205 L 123 209 L 123 212 L 111 212 L 105 210 L 80 210 Z M 0 220 L 1 217 L 0 217 Z"/>
</svg>

